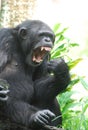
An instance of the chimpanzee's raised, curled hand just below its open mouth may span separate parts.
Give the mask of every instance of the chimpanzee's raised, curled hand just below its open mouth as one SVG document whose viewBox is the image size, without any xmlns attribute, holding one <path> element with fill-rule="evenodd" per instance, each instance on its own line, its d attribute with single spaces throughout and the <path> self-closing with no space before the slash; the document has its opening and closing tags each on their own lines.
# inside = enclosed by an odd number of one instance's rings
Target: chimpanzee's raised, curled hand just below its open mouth
<svg viewBox="0 0 88 130">
<path fill-rule="evenodd" d="M 48 71 L 56 75 L 69 72 L 68 66 L 62 58 L 59 60 L 54 59 L 48 62 Z"/>
</svg>

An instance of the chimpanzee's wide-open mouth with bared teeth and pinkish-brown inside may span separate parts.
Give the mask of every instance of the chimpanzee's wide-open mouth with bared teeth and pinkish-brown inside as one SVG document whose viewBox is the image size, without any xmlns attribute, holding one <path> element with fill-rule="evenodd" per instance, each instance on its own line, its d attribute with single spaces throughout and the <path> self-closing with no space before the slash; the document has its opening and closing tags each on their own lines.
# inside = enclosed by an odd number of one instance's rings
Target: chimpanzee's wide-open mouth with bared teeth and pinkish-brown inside
<svg viewBox="0 0 88 130">
<path fill-rule="evenodd" d="M 35 63 L 40 63 L 43 61 L 44 57 L 48 52 L 51 51 L 50 47 L 38 47 L 33 51 L 32 61 Z"/>
</svg>

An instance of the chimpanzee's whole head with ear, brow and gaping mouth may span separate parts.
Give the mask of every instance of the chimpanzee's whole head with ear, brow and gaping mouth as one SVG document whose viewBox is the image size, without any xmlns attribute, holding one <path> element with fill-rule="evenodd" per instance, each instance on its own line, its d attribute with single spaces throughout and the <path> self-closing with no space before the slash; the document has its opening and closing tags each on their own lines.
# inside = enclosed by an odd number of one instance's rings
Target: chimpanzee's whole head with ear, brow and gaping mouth
<svg viewBox="0 0 88 130">
<path fill-rule="evenodd" d="M 21 45 L 26 54 L 26 63 L 40 65 L 53 47 L 53 31 L 45 23 L 33 20 L 29 26 L 21 27 L 20 36 L 23 38 Z"/>
</svg>

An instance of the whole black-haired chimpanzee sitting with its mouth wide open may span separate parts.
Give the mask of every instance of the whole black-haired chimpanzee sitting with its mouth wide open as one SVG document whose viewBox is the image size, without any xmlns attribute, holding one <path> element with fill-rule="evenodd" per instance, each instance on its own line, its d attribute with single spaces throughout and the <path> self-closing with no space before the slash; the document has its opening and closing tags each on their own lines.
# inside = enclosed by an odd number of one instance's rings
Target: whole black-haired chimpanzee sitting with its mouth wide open
<svg viewBox="0 0 88 130">
<path fill-rule="evenodd" d="M 61 117 L 52 119 L 61 115 L 56 96 L 66 89 L 70 75 L 63 59 L 50 60 L 54 41 L 54 32 L 39 20 L 0 30 L 0 79 L 9 84 L 4 115 L 16 123 L 12 130 L 62 124 Z"/>
</svg>

